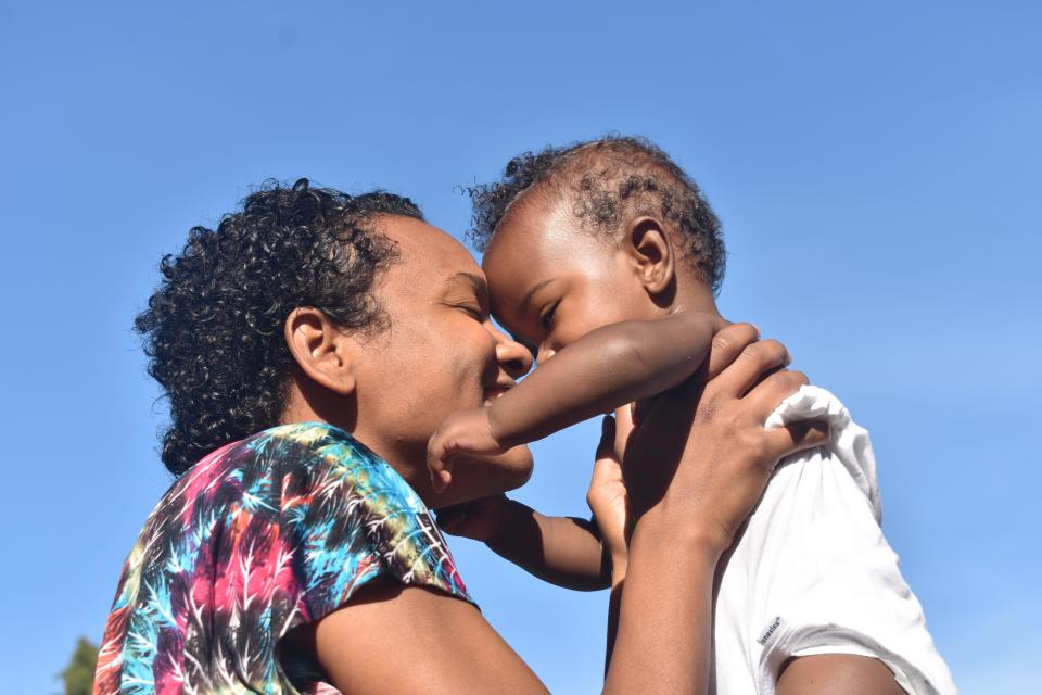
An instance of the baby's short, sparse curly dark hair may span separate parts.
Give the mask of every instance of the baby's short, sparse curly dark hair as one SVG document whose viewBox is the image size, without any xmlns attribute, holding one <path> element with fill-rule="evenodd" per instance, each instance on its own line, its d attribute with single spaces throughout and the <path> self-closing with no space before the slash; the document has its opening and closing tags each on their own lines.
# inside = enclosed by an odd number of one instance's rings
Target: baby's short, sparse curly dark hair
<svg viewBox="0 0 1042 695">
<path fill-rule="evenodd" d="M 469 237 L 479 251 L 510 207 L 536 187 L 552 187 L 584 226 L 601 233 L 614 235 L 638 215 L 672 225 L 696 273 L 714 293 L 720 290 L 726 262 L 720 219 L 698 185 L 650 140 L 606 136 L 513 157 L 498 181 L 467 188 L 473 204 Z"/>
</svg>

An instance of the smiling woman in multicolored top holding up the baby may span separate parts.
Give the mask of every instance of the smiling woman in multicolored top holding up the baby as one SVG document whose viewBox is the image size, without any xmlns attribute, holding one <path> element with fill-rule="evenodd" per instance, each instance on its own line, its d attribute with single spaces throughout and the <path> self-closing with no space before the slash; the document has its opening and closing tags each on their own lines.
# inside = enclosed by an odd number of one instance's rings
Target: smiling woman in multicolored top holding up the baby
<svg viewBox="0 0 1042 695">
<path fill-rule="evenodd" d="M 428 511 L 532 467 L 518 447 L 430 488 L 434 428 L 531 366 L 490 323 L 470 254 L 406 199 L 302 180 L 193 229 L 162 271 L 137 326 L 180 478 L 124 568 L 96 692 L 545 692 L 471 603 Z M 606 692 L 704 690 L 716 561 L 771 467 L 824 439 L 763 429 L 801 379 L 758 384 L 785 356 L 754 339 L 722 334 L 708 405 L 677 394 L 674 421 L 652 413 L 627 452 L 648 472 Z M 677 417 L 691 425 L 671 439 Z"/>
</svg>

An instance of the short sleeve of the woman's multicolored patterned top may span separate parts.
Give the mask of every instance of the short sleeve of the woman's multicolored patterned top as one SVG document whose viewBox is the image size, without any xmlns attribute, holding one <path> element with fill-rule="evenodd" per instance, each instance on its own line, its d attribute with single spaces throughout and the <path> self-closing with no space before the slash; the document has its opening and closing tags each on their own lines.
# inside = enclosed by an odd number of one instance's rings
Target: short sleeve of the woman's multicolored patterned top
<svg viewBox="0 0 1042 695">
<path fill-rule="evenodd" d="M 318 621 L 377 577 L 471 602 L 427 506 L 383 459 L 330 426 L 283 433 L 281 519 L 300 620 Z"/>
</svg>

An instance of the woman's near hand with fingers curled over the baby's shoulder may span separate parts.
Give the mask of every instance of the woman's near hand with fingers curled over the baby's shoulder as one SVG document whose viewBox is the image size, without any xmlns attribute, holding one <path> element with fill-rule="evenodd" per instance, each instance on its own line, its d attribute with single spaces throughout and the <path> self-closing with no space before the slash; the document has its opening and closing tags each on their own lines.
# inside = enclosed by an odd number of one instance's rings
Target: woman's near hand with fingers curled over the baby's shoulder
<svg viewBox="0 0 1042 695">
<path fill-rule="evenodd" d="M 828 440 L 817 422 L 764 429 L 808 383 L 784 370 L 788 364 L 785 346 L 758 341 L 748 324 L 716 334 L 706 372 L 657 397 L 627 442 L 623 475 L 638 519 L 695 534 L 716 552 L 733 543 L 778 460 Z"/>
</svg>

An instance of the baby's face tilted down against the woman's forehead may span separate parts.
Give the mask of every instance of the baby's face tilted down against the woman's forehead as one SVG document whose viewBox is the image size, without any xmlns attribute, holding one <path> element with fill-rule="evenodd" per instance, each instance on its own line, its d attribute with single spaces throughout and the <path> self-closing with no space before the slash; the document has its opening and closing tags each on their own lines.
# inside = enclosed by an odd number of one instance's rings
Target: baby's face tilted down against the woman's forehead
<svg viewBox="0 0 1042 695">
<path fill-rule="evenodd" d="M 496 319 L 541 363 L 601 326 L 656 315 L 622 245 L 543 198 L 511 207 L 482 262 Z"/>
</svg>

